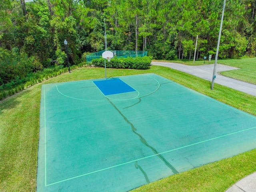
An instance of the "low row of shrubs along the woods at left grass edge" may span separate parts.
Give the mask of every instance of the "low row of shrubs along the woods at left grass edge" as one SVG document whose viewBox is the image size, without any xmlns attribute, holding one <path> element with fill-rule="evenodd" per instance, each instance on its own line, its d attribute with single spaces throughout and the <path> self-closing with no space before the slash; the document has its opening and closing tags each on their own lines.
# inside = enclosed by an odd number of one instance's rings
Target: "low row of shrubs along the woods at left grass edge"
<svg viewBox="0 0 256 192">
<path fill-rule="evenodd" d="M 70 70 L 82 67 L 83 65 L 70 66 Z M 4 100 L 8 96 L 12 96 L 25 88 L 28 88 L 34 84 L 40 83 L 49 78 L 58 76 L 62 73 L 68 72 L 68 67 L 65 68 L 45 68 L 43 71 L 30 74 L 25 80 L 17 80 L 15 83 L 4 84 L 0 86 L 0 100 Z"/>
</svg>

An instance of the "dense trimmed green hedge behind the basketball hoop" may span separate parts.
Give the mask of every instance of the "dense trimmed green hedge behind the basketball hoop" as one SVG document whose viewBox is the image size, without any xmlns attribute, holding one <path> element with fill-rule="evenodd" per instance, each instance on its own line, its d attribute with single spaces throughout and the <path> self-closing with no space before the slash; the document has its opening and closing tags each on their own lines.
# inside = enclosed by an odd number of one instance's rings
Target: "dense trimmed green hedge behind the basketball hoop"
<svg viewBox="0 0 256 192">
<path fill-rule="evenodd" d="M 106 60 L 106 68 L 123 68 L 123 69 L 148 69 L 151 64 L 152 57 L 114 57 L 108 62 Z M 105 67 L 104 58 L 93 59 L 92 65 L 95 67 Z"/>
</svg>

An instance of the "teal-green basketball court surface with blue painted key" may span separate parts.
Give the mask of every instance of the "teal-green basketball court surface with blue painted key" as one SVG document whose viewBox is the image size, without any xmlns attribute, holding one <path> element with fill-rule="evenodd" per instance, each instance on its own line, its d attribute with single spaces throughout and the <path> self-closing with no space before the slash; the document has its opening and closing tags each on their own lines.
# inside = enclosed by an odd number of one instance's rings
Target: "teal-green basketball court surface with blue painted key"
<svg viewBox="0 0 256 192">
<path fill-rule="evenodd" d="M 37 191 L 125 192 L 256 148 L 255 135 L 256 116 L 156 74 L 45 84 Z"/>
</svg>

